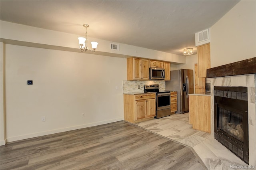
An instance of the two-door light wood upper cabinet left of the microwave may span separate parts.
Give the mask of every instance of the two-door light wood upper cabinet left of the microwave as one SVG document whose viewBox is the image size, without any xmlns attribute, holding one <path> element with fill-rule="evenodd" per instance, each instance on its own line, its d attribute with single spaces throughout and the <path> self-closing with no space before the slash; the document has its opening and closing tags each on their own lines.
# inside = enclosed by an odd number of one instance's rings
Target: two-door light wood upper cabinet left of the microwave
<svg viewBox="0 0 256 170">
<path fill-rule="evenodd" d="M 149 80 L 149 60 L 128 58 L 127 80 Z"/>
</svg>

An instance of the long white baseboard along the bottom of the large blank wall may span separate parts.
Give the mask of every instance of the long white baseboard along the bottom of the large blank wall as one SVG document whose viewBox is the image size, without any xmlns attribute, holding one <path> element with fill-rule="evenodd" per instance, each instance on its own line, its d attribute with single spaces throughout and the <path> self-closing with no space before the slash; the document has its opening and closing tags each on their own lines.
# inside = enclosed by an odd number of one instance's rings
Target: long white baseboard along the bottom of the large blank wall
<svg viewBox="0 0 256 170">
<path fill-rule="evenodd" d="M 76 130 L 76 129 L 80 129 L 80 128 L 93 127 L 93 126 L 97 126 L 97 125 L 104 125 L 104 124 L 107 124 L 107 123 L 113 123 L 113 122 L 123 121 L 123 120 L 124 120 L 124 118 L 120 117 L 120 118 L 117 118 L 117 119 L 111 119 L 111 120 L 107 120 L 107 121 L 88 123 L 88 124 L 78 125 L 78 126 L 74 126 L 74 127 L 66 127 L 66 128 L 48 130 L 48 131 L 44 131 L 44 132 L 31 133 L 31 134 L 25 134 L 25 135 L 20 135 L 20 136 L 13 136 L 13 137 L 9 137 L 9 138 L 7 137 L 6 140 L 5 140 L 5 143 L 4 143 L 4 141 L 3 141 L 3 143 L 6 144 L 6 141 L 7 142 L 13 142 L 13 141 L 17 141 L 17 140 L 34 138 L 34 137 L 38 137 L 38 136 L 44 136 L 44 135 L 54 134 L 54 133 L 59 133 L 59 132 L 66 132 L 66 131 Z M 1 145 L 2 145 L 2 140 L 1 140 Z"/>
</svg>

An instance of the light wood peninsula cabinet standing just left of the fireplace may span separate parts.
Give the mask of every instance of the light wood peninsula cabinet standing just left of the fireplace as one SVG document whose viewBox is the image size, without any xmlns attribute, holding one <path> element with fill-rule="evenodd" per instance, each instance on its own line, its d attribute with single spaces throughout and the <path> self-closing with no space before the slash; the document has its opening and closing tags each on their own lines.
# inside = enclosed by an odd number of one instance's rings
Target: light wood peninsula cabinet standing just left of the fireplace
<svg viewBox="0 0 256 170">
<path fill-rule="evenodd" d="M 210 93 L 189 94 L 189 123 L 192 128 L 211 132 L 211 96 Z"/>
</svg>

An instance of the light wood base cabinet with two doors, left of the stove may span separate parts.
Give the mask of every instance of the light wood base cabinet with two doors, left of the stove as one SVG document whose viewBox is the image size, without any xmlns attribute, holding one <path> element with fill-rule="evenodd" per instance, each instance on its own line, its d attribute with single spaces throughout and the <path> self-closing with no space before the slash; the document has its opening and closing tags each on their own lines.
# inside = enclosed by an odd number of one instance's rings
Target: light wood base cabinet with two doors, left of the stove
<svg viewBox="0 0 256 170">
<path fill-rule="evenodd" d="M 124 94 L 124 120 L 138 123 L 156 116 L 156 94 Z"/>
</svg>

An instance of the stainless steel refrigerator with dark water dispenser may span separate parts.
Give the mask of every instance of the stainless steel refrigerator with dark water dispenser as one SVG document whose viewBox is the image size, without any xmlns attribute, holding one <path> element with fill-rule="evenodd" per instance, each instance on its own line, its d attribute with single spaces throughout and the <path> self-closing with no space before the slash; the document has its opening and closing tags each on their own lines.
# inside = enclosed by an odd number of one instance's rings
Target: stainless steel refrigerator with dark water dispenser
<svg viewBox="0 0 256 170">
<path fill-rule="evenodd" d="M 176 113 L 189 112 L 189 95 L 194 93 L 193 70 L 179 69 L 171 71 L 171 80 L 166 81 L 166 90 L 177 91 Z"/>
</svg>

